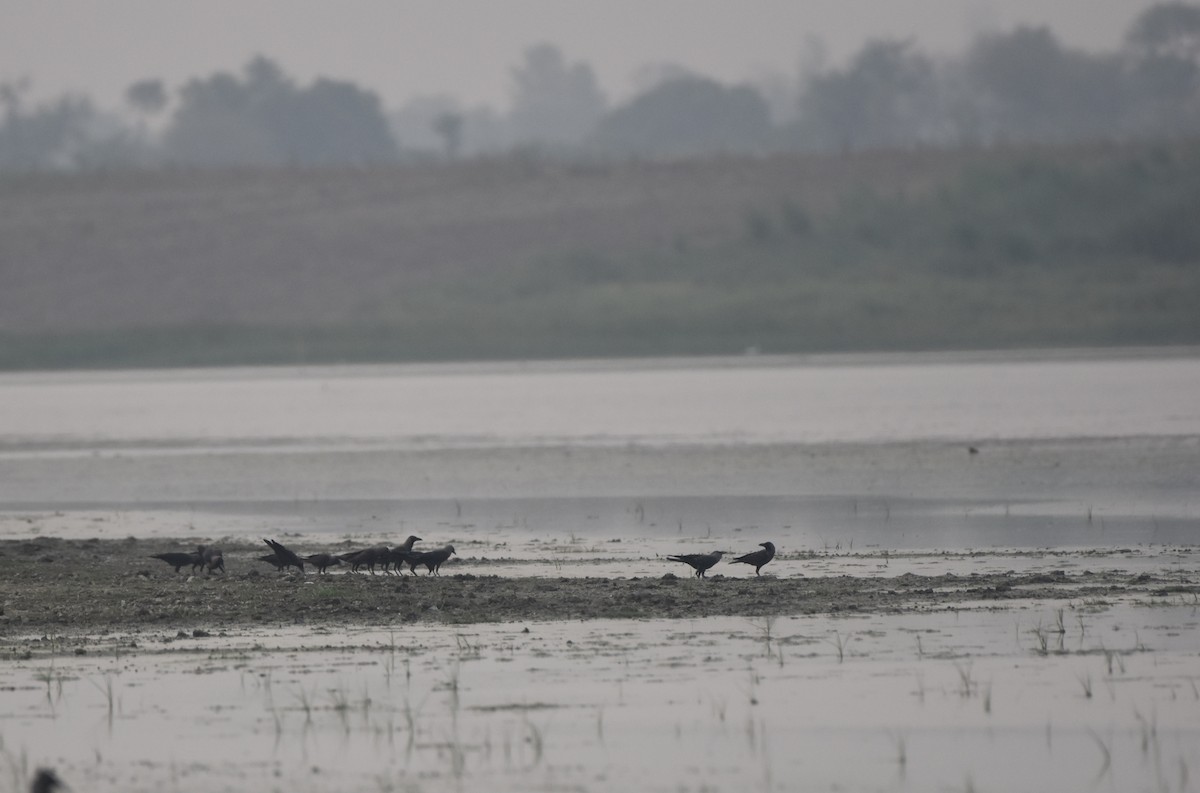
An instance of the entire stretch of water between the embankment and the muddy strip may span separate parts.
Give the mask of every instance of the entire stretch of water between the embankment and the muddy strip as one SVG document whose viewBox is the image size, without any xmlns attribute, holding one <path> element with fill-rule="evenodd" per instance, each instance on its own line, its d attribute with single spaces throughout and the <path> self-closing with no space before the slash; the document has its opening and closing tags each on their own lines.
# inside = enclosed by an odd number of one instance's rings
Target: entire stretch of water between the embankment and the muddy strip
<svg viewBox="0 0 1200 793">
<path fill-rule="evenodd" d="M 0 533 L 1183 542 L 1195 394 L 1190 350 L 5 374 Z"/>
</svg>

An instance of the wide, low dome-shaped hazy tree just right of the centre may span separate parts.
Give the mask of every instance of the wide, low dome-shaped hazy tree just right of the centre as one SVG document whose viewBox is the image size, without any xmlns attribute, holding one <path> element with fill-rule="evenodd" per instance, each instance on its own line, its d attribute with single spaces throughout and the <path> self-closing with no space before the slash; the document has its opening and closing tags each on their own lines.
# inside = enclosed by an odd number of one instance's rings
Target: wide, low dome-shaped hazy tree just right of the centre
<svg viewBox="0 0 1200 793">
<path fill-rule="evenodd" d="M 614 108 L 594 143 L 623 155 L 684 156 L 758 151 L 770 132 L 770 109 L 752 88 L 706 77 L 662 83 Z"/>
</svg>

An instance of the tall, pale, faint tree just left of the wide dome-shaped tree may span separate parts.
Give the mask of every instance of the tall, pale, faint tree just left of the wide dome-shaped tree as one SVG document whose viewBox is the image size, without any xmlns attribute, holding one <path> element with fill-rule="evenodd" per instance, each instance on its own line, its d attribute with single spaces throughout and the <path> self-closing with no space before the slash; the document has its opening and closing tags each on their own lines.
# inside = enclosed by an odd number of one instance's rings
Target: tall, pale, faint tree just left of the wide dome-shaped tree
<svg viewBox="0 0 1200 793">
<path fill-rule="evenodd" d="M 553 44 L 538 44 L 512 70 L 511 124 L 520 140 L 575 145 L 592 133 L 607 101 L 587 64 L 568 64 Z"/>
</svg>

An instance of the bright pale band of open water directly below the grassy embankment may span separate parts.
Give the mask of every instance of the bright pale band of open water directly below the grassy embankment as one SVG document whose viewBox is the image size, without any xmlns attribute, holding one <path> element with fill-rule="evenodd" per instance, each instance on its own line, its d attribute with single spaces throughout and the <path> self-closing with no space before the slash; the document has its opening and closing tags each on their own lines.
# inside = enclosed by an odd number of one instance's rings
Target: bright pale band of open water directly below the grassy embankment
<svg viewBox="0 0 1200 793">
<path fill-rule="evenodd" d="M 1200 356 L 0 376 L 0 441 L 886 443 L 1200 434 Z"/>
</svg>

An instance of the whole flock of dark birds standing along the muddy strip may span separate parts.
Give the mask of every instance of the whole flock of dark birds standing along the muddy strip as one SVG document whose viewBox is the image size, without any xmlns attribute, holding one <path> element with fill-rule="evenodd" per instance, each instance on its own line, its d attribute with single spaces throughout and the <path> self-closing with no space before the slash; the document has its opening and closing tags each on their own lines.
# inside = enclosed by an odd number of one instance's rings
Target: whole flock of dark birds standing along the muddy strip
<svg viewBox="0 0 1200 793">
<path fill-rule="evenodd" d="M 425 575 L 440 576 L 442 565 L 450 557 L 455 555 L 454 546 L 446 545 L 433 551 L 414 551 L 413 546 L 420 541 L 421 537 L 409 535 L 407 540 L 396 547 L 388 547 L 380 543 L 370 548 L 350 551 L 349 553 L 312 553 L 301 557 L 282 542 L 263 540 L 266 547 L 271 549 L 271 553 L 258 557 L 258 561 L 275 565 L 277 571 L 296 567 L 300 572 L 304 572 L 305 564 L 310 564 L 317 569 L 318 573 L 324 573 L 334 565 L 348 564 L 352 572 L 360 572 L 366 567 L 371 575 L 374 575 L 376 567 L 379 567 L 384 573 L 395 572 L 396 575 L 402 575 L 403 566 L 408 565 L 408 571 L 415 576 L 416 569 L 424 566 L 427 570 Z M 731 564 L 742 563 L 754 565 L 754 575 L 761 576 L 762 566 L 775 558 L 775 546 L 772 542 L 760 542 L 758 545 L 762 546 L 762 551 L 743 554 L 737 559 L 732 559 Z M 696 571 L 696 577 L 703 578 L 704 573 L 720 561 L 724 555 L 725 551 L 714 551 L 712 553 L 683 553 L 667 557 L 667 559 L 690 565 Z M 150 558 L 162 559 L 174 567 L 175 572 L 187 566 L 192 569 L 192 572 L 202 569 L 210 573 L 214 570 L 224 572 L 224 557 L 221 554 L 221 551 L 203 545 L 198 546 L 196 551 L 156 553 Z"/>
</svg>

